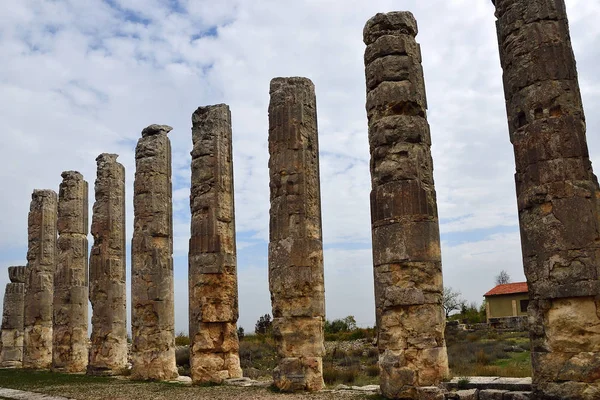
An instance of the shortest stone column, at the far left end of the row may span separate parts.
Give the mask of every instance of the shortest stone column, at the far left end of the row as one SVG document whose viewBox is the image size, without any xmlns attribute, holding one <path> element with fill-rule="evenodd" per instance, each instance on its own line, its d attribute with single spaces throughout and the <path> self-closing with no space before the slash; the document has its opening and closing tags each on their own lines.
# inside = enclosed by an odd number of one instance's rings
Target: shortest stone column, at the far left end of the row
<svg viewBox="0 0 600 400">
<path fill-rule="evenodd" d="M 25 311 L 26 267 L 8 267 L 10 283 L 4 292 L 0 367 L 19 368 L 23 365 L 23 313 Z"/>
</svg>

